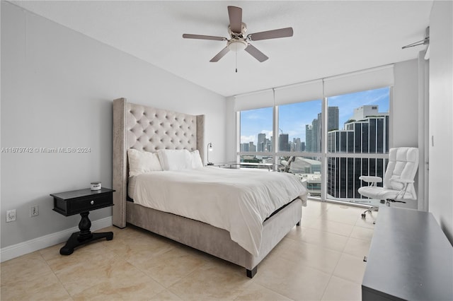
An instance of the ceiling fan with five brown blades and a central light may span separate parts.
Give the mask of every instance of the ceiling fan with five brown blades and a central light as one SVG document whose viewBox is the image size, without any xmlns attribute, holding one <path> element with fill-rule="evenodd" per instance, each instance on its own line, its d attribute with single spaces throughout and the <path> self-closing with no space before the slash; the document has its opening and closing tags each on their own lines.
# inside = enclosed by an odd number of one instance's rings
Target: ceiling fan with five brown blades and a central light
<svg viewBox="0 0 453 301">
<path fill-rule="evenodd" d="M 263 31 L 260 33 L 251 33 L 246 35 L 247 25 L 242 22 L 242 8 L 236 6 L 228 6 L 228 16 L 229 16 L 229 26 L 228 32 L 230 39 L 226 37 L 215 37 L 212 35 L 190 35 L 183 34 L 185 39 L 200 39 L 200 40 L 216 40 L 216 41 L 226 41 L 226 47 L 222 49 L 215 57 L 210 61 L 215 62 L 222 59 L 225 54 L 230 50 L 233 52 L 239 52 L 241 50 L 246 50 L 252 57 L 258 59 L 258 61 L 263 62 L 266 59 L 269 59 L 263 52 L 260 52 L 256 47 L 250 44 L 250 41 L 258 40 L 269 40 L 276 39 L 278 37 L 292 37 L 292 28 L 280 28 L 275 30 Z"/>
</svg>

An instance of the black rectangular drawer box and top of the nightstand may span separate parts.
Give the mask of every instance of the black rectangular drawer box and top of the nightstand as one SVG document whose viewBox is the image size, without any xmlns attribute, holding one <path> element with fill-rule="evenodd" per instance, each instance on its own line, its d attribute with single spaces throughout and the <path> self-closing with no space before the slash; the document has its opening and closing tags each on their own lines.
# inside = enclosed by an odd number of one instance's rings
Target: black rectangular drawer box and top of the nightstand
<svg viewBox="0 0 453 301">
<path fill-rule="evenodd" d="M 62 194 L 51 194 L 54 197 L 54 211 L 64 216 L 72 216 L 113 206 L 113 190 L 101 189 L 100 191 L 69 191 Z"/>
</svg>

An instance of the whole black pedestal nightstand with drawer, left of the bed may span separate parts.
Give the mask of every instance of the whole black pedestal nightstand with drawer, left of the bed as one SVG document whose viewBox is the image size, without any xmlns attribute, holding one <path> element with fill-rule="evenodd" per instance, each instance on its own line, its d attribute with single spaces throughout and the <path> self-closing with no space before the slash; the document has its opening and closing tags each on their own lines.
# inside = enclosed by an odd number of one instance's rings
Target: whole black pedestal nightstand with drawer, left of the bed
<svg viewBox="0 0 453 301">
<path fill-rule="evenodd" d="M 113 189 L 102 188 L 101 190 L 81 189 L 74 191 L 50 194 L 54 197 L 54 211 L 63 216 L 73 216 L 80 213 L 79 232 L 72 233 L 59 254 L 71 255 L 74 248 L 93 240 L 105 238 L 113 240 L 113 232 L 91 233 L 91 220 L 88 218 L 89 211 L 113 206 Z"/>
</svg>

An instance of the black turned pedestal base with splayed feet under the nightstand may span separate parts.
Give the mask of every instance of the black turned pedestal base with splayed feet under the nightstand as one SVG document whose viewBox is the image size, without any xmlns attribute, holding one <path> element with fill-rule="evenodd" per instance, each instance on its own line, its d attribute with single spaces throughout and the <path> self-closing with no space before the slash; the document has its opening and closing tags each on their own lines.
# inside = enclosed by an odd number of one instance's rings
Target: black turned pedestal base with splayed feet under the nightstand
<svg viewBox="0 0 453 301">
<path fill-rule="evenodd" d="M 64 244 L 64 247 L 59 250 L 59 254 L 71 255 L 76 247 L 82 244 L 93 242 L 105 238 L 106 240 L 113 240 L 113 232 L 91 233 L 91 220 L 88 218 L 88 212 L 80 213 L 81 220 L 79 223 L 79 232 L 72 233 L 69 240 Z"/>
</svg>

